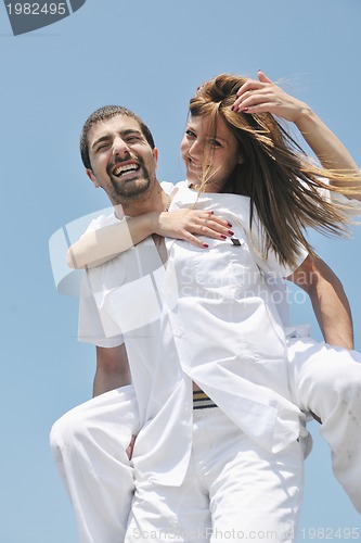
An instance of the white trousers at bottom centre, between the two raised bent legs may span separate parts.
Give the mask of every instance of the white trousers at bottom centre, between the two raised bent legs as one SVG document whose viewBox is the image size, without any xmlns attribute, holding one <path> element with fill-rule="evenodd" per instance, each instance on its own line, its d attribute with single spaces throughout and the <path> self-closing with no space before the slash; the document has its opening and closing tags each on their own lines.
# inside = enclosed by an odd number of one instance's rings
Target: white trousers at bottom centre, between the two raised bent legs
<svg viewBox="0 0 361 543">
<path fill-rule="evenodd" d="M 180 487 L 136 476 L 126 543 L 292 542 L 301 503 L 305 446 L 272 454 L 218 407 L 194 411 L 193 451 Z"/>
</svg>

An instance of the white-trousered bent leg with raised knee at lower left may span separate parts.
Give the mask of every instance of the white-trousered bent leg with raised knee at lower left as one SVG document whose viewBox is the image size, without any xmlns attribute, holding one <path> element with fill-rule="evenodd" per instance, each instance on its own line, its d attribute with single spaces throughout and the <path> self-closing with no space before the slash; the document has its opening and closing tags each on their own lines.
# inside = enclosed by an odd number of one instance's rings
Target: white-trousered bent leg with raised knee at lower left
<svg viewBox="0 0 361 543">
<path fill-rule="evenodd" d="M 132 387 L 101 394 L 52 427 L 51 449 L 81 543 L 124 542 L 133 495 L 133 472 L 125 451 L 138 431 Z"/>
</svg>

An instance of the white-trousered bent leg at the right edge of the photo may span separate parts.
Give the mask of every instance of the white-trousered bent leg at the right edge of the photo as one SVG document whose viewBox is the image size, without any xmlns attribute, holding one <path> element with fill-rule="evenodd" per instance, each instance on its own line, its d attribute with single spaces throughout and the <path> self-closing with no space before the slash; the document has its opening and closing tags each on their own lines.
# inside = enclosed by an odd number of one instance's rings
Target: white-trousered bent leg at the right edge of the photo
<svg viewBox="0 0 361 543">
<path fill-rule="evenodd" d="M 361 354 L 306 338 L 291 340 L 288 361 L 292 400 L 321 418 L 335 477 L 361 513 Z"/>
</svg>

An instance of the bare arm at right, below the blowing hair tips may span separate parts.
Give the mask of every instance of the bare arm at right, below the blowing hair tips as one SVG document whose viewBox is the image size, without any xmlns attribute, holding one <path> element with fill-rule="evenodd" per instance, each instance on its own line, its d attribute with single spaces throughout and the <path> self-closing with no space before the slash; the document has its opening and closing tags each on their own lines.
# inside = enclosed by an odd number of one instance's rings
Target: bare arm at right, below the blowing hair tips
<svg viewBox="0 0 361 543">
<path fill-rule="evenodd" d="M 309 255 L 287 279 L 309 294 L 326 343 L 353 349 L 350 306 L 340 280 L 326 263 Z"/>
</svg>

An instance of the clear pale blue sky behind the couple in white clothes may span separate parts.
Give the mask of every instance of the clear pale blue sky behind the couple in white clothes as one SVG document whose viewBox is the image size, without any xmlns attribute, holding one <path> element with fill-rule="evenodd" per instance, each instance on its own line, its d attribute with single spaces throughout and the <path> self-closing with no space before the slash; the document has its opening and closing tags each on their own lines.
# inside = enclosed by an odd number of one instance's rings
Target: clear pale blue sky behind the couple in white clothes
<svg viewBox="0 0 361 543">
<path fill-rule="evenodd" d="M 79 159 L 87 116 L 108 103 L 138 112 L 159 148 L 158 178 L 176 181 L 195 87 L 222 72 L 262 68 L 311 104 L 361 164 L 360 17 L 358 0 L 87 0 L 72 16 L 14 37 L 1 4 L 3 543 L 77 541 L 48 434 L 90 397 L 94 353 L 76 340 L 77 299 L 56 292 L 48 243 L 108 205 Z M 311 238 L 344 282 L 361 349 L 361 230 L 350 240 Z M 309 305 L 292 310 L 320 338 Z M 299 542 L 311 540 L 309 528 L 360 527 L 315 424 L 311 431 Z"/>
</svg>

